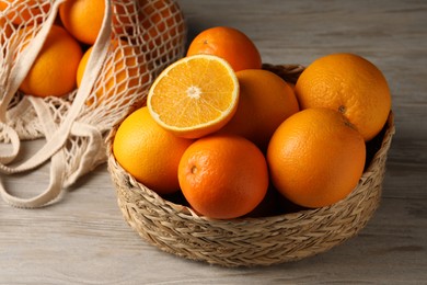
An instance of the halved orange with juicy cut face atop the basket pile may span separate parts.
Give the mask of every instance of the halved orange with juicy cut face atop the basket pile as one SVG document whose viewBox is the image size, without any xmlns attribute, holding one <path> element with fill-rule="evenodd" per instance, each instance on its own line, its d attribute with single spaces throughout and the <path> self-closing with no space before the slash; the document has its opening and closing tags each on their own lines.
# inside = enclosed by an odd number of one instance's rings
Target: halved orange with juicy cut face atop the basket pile
<svg viewBox="0 0 427 285">
<path fill-rule="evenodd" d="M 196 55 L 164 69 L 148 93 L 150 114 L 177 136 L 199 138 L 224 126 L 239 102 L 239 81 L 220 57 Z"/>
</svg>

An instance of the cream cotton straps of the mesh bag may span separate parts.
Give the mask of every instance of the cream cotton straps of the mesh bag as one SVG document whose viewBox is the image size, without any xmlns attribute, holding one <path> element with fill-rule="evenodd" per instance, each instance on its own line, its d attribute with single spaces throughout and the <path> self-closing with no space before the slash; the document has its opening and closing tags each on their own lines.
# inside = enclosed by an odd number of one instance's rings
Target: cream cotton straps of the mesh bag
<svg viewBox="0 0 427 285">
<path fill-rule="evenodd" d="M 9 167 L 8 163 L 12 162 L 21 148 L 20 138 L 16 132 L 7 124 L 7 107 L 11 102 L 14 93 L 16 92 L 22 80 L 34 62 L 37 54 L 43 47 L 48 32 L 55 22 L 58 13 L 59 4 L 65 0 L 56 1 L 51 8 L 50 14 L 42 29 L 35 36 L 35 38 L 24 49 L 22 56 L 18 58 L 18 62 L 10 70 L 10 82 L 5 84 L 4 95 L 0 103 L 0 128 L 3 128 L 8 134 L 10 144 L 12 145 L 12 151 L 9 155 L 0 157 L 0 172 L 11 174 L 33 170 L 50 159 L 50 182 L 47 189 L 39 195 L 31 198 L 21 198 L 9 193 L 1 183 L 0 179 L 0 194 L 2 198 L 10 205 L 24 208 L 42 207 L 50 204 L 60 197 L 64 191 L 64 173 L 65 173 L 65 157 L 61 149 L 66 144 L 70 134 L 84 135 L 90 137 L 90 141 L 94 145 L 89 148 L 90 151 L 99 151 L 100 145 L 102 145 L 101 136 L 97 134 L 94 127 L 76 122 L 77 116 L 80 113 L 86 98 L 90 95 L 92 87 L 95 83 L 97 75 L 103 67 L 104 59 L 107 54 L 107 49 L 111 43 L 111 1 L 105 0 L 105 12 L 103 24 L 100 34 L 93 45 L 93 50 L 88 60 L 88 66 L 82 78 L 80 88 L 77 91 L 76 98 L 72 101 L 72 105 L 61 122 L 57 125 L 51 117 L 49 110 L 47 110 L 46 103 L 43 99 L 25 96 L 23 100 L 27 100 L 35 109 L 37 117 L 43 125 L 43 130 L 46 137 L 46 144 L 30 159 L 22 162 L 19 166 Z M 82 159 L 83 163 L 85 159 Z"/>
</svg>

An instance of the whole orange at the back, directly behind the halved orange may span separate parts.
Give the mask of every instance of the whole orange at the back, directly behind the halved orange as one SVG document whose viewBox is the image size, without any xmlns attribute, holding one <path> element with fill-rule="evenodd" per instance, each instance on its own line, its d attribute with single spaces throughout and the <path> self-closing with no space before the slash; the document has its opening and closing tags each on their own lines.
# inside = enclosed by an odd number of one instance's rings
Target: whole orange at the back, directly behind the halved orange
<svg viewBox="0 0 427 285">
<path fill-rule="evenodd" d="M 210 27 L 199 33 L 187 50 L 187 56 L 197 54 L 222 57 L 234 71 L 262 67 L 259 52 L 252 39 L 243 32 L 229 26 Z"/>
</svg>

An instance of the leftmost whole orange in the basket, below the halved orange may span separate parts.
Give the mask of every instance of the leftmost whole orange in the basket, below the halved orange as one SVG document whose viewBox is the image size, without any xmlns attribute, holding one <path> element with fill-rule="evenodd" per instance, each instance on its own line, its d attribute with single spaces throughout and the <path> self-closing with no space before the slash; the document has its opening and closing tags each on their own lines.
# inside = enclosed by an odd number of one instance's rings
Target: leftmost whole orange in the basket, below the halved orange
<svg viewBox="0 0 427 285">
<path fill-rule="evenodd" d="M 141 107 L 117 128 L 113 153 L 135 179 L 159 194 L 180 190 L 177 169 L 192 140 L 178 138 L 161 128 Z"/>
</svg>

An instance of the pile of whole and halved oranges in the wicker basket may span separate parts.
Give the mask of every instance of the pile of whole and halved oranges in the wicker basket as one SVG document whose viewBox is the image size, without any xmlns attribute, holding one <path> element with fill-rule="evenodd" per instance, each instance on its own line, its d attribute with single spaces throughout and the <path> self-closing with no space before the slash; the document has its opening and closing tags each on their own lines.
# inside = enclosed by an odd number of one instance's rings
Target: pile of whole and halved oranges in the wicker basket
<svg viewBox="0 0 427 285">
<path fill-rule="evenodd" d="M 262 69 L 247 35 L 218 26 L 155 79 L 113 152 L 136 180 L 165 197 L 182 193 L 209 218 L 316 208 L 355 189 L 390 110 L 385 78 L 360 56 L 321 57 L 293 84 Z"/>
</svg>

